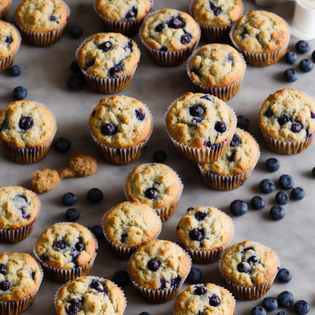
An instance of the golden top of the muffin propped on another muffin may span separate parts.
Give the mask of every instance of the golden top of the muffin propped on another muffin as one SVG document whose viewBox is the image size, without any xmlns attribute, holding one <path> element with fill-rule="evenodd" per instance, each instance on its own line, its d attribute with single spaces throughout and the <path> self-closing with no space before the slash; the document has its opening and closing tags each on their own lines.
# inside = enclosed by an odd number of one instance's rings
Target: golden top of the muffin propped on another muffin
<svg viewBox="0 0 315 315">
<path fill-rule="evenodd" d="M 235 119 L 226 103 L 216 96 L 188 92 L 175 101 L 165 122 L 176 141 L 204 148 L 228 139 L 234 131 Z"/>
</svg>

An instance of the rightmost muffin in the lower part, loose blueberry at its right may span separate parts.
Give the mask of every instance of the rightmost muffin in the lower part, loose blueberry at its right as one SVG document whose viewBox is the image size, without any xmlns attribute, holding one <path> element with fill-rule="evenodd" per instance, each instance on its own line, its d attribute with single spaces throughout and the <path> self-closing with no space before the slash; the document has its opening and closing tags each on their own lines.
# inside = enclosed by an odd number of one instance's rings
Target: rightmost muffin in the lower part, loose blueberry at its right
<svg viewBox="0 0 315 315">
<path fill-rule="evenodd" d="M 228 289 L 237 299 L 255 300 L 270 289 L 280 261 L 271 249 L 244 241 L 226 249 L 219 265 Z"/>
</svg>

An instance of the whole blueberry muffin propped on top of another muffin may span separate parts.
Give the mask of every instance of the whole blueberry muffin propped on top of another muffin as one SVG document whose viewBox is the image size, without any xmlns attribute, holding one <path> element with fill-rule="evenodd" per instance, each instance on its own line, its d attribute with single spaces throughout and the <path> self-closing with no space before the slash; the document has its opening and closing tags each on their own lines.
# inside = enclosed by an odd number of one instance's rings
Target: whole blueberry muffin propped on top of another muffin
<svg viewBox="0 0 315 315">
<path fill-rule="evenodd" d="M 188 92 L 168 109 L 165 123 L 176 149 L 192 162 L 209 163 L 227 150 L 236 116 L 219 98 Z"/>
</svg>

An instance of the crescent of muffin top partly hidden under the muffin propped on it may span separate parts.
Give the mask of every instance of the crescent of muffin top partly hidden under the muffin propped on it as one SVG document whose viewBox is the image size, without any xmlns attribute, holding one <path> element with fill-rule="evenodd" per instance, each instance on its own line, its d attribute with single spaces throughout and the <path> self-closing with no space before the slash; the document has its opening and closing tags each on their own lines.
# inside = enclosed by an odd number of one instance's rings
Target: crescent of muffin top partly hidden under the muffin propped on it
<svg viewBox="0 0 315 315">
<path fill-rule="evenodd" d="M 249 132 L 236 128 L 230 146 L 217 160 L 202 164 L 207 172 L 238 175 L 252 168 L 258 157 L 258 146 Z"/>
</svg>

